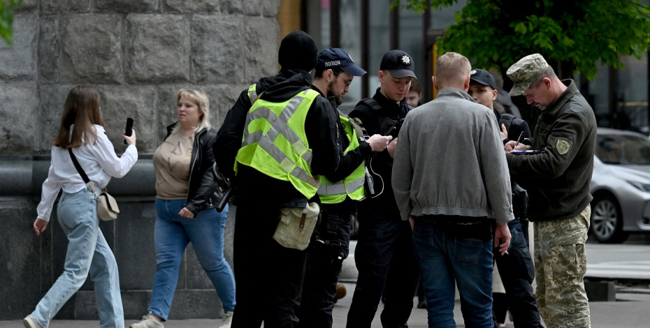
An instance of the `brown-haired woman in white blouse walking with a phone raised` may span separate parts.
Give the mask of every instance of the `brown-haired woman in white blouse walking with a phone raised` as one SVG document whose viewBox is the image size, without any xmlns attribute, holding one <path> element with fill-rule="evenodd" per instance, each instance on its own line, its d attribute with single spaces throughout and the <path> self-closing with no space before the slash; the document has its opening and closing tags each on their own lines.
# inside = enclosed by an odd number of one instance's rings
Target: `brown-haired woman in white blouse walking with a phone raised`
<svg viewBox="0 0 650 328">
<path fill-rule="evenodd" d="M 95 282 L 101 327 L 124 328 L 117 262 L 99 227 L 97 198 L 112 176 L 122 178 L 129 172 L 138 160 L 138 151 L 134 130 L 131 137 L 122 135 L 129 147 L 117 157 L 103 125 L 98 92 L 91 87 L 73 87 L 66 98 L 59 134 L 52 140 L 52 164 L 33 225 L 37 235 L 45 231 L 54 200 L 63 189 L 57 217 L 69 241 L 66 262 L 63 274 L 23 320 L 26 328 L 47 328 L 88 274 Z M 88 175 L 88 185 L 75 169 L 68 148 Z"/>
</svg>

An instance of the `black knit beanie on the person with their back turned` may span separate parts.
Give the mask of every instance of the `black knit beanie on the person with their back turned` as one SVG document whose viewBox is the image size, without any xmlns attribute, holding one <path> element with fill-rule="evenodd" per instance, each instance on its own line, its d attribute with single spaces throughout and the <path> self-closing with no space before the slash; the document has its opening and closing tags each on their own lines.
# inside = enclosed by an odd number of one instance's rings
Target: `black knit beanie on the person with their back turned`
<svg viewBox="0 0 650 328">
<path fill-rule="evenodd" d="M 318 46 L 306 32 L 290 32 L 280 42 L 278 63 L 283 69 L 300 68 L 309 72 L 316 67 L 317 58 Z"/>
</svg>

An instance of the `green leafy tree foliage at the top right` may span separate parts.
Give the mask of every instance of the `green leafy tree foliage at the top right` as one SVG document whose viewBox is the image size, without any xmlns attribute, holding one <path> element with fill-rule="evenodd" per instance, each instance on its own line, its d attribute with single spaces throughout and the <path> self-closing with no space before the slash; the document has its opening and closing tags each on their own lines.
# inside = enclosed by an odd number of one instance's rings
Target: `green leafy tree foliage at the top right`
<svg viewBox="0 0 650 328">
<path fill-rule="evenodd" d="M 458 0 L 395 0 L 421 12 Z M 505 73 L 539 53 L 560 78 L 596 75 L 598 61 L 622 67 L 619 56 L 641 59 L 650 46 L 650 6 L 641 0 L 468 0 L 439 39 L 440 54 L 456 51 L 475 67 Z M 509 79 L 504 78 L 504 81 Z"/>
</svg>

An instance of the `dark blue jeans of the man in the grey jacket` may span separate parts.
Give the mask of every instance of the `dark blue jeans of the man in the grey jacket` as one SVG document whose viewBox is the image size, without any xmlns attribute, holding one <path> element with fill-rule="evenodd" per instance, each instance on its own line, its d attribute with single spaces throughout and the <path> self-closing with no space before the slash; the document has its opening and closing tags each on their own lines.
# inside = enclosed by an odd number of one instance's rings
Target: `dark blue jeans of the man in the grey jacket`
<svg viewBox="0 0 650 328">
<path fill-rule="evenodd" d="M 492 241 L 448 236 L 415 220 L 413 248 L 422 268 L 429 327 L 455 328 L 454 281 L 465 327 L 493 327 Z"/>
</svg>

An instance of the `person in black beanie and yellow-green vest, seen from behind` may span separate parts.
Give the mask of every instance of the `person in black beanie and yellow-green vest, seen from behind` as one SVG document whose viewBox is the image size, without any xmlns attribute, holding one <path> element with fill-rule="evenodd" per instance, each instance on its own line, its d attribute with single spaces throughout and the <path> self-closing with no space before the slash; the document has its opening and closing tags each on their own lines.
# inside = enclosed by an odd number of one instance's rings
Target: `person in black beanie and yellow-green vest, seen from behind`
<svg viewBox="0 0 650 328">
<path fill-rule="evenodd" d="M 280 213 L 286 212 L 281 210 L 312 209 L 317 175 L 332 174 L 341 160 L 336 115 L 310 88 L 317 55 L 307 33 L 287 35 L 280 43 L 278 75 L 241 93 L 213 145 L 220 174 L 236 175 L 237 183 L 233 328 L 262 322 L 297 326 L 307 250 L 285 248 L 274 235 Z"/>
</svg>

